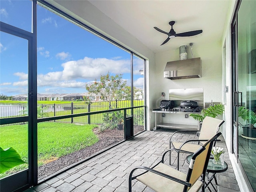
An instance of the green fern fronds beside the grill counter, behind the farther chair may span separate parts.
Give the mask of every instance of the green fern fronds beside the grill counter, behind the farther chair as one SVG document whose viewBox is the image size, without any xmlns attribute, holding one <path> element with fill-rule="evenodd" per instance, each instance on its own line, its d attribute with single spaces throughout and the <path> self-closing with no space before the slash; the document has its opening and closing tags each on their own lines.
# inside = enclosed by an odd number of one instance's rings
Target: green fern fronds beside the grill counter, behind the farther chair
<svg viewBox="0 0 256 192">
<path fill-rule="evenodd" d="M 201 114 L 190 114 L 194 118 L 194 120 L 203 121 L 206 116 L 215 118 L 218 115 L 222 115 L 224 113 L 224 105 L 218 104 L 214 106 L 209 106 L 206 109 L 201 111 Z"/>
</svg>

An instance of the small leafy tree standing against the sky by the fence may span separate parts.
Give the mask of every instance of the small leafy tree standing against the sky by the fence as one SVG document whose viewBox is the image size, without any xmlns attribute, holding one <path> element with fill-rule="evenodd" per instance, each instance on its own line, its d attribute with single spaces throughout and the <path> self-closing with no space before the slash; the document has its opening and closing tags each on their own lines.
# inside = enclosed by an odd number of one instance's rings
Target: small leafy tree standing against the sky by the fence
<svg viewBox="0 0 256 192">
<path fill-rule="evenodd" d="M 122 74 L 111 76 L 108 72 L 106 75 L 101 75 L 99 81 L 95 79 L 92 84 L 86 83 L 85 87 L 89 94 L 100 95 L 102 100 L 108 102 L 111 109 L 111 101 L 124 98 L 125 86 L 126 80 L 122 79 Z"/>
</svg>

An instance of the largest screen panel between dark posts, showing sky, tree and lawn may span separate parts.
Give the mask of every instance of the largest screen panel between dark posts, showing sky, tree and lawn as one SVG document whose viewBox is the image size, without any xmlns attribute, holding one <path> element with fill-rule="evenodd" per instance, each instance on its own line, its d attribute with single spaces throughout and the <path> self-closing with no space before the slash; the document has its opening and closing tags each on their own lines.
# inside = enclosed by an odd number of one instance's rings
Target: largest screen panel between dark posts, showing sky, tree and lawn
<svg viewBox="0 0 256 192">
<path fill-rule="evenodd" d="M 130 53 L 39 4 L 37 14 L 38 118 L 131 106 L 125 98 Z M 38 180 L 124 140 L 117 116 L 39 123 Z"/>
</svg>

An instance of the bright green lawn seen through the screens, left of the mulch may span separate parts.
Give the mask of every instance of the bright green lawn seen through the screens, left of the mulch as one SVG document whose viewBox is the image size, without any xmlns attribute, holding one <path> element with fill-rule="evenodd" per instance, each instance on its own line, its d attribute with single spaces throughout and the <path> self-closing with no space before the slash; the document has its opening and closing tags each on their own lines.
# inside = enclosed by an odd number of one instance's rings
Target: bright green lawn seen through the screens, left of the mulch
<svg viewBox="0 0 256 192">
<path fill-rule="evenodd" d="M 98 142 L 98 137 L 92 132 L 95 127 L 59 122 L 38 123 L 38 166 Z M 3 149 L 14 148 L 22 160 L 28 162 L 27 124 L 1 126 L 0 140 Z M 9 172 L 24 170 L 27 166 L 23 164 Z M 0 178 L 6 174 L 0 174 Z"/>
</svg>

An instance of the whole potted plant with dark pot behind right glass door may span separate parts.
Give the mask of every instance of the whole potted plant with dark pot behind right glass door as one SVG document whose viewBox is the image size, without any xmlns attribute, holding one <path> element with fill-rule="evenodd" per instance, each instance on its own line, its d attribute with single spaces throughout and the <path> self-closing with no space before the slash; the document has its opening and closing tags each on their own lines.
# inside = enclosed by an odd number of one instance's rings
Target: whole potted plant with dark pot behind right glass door
<svg viewBox="0 0 256 192">
<path fill-rule="evenodd" d="M 246 137 L 256 138 L 256 127 L 254 126 L 256 123 L 256 113 L 241 106 L 238 108 L 238 117 L 242 118 L 246 122 L 245 125 L 239 122 L 243 128 L 243 135 Z"/>
</svg>

